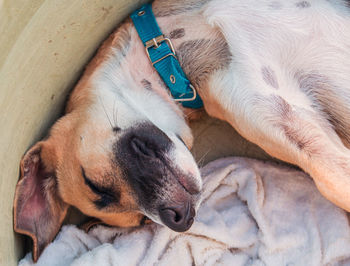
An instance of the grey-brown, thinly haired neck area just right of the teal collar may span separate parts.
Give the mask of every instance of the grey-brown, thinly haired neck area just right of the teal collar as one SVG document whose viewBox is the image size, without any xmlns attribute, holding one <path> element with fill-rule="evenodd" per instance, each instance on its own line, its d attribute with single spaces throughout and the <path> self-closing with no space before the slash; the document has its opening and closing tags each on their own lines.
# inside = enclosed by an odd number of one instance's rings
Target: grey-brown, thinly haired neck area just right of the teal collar
<svg viewBox="0 0 350 266">
<path fill-rule="evenodd" d="M 231 53 L 221 31 L 207 21 L 209 1 L 188 2 L 191 3 L 167 5 L 156 1 L 153 10 L 164 35 L 174 44 L 187 77 L 200 96 L 208 100 L 209 81 L 215 72 L 229 64 Z"/>
</svg>

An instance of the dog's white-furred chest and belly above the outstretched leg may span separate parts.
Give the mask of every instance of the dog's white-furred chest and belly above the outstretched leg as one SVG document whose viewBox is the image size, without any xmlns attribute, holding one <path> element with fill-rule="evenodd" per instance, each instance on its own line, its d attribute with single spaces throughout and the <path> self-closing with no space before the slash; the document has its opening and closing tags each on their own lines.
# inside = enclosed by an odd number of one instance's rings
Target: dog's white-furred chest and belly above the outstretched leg
<svg viewBox="0 0 350 266">
<path fill-rule="evenodd" d="M 328 1 L 210 4 L 208 19 L 233 55 L 229 68 L 209 82 L 210 115 L 235 123 L 232 113 L 235 120 L 249 116 L 241 103 L 277 95 L 293 108 L 337 117 L 342 134 L 350 132 L 350 12 Z"/>
</svg>

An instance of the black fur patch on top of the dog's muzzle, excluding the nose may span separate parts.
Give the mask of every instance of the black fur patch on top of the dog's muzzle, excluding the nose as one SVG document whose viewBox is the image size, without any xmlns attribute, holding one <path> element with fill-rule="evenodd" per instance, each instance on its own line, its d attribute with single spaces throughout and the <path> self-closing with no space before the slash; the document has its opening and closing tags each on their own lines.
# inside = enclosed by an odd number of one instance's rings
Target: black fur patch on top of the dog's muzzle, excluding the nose
<svg viewBox="0 0 350 266">
<path fill-rule="evenodd" d="M 114 144 L 115 164 L 146 209 L 153 209 L 159 193 L 169 182 L 171 172 L 165 154 L 172 145 L 168 136 L 151 124 L 131 128 Z"/>
</svg>

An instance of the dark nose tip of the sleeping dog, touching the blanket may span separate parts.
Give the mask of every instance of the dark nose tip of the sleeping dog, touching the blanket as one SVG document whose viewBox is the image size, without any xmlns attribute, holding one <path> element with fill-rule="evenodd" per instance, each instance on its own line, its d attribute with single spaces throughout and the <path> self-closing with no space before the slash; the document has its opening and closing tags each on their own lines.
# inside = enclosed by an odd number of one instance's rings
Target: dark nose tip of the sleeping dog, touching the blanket
<svg viewBox="0 0 350 266">
<path fill-rule="evenodd" d="M 165 207 L 159 210 L 162 222 L 176 232 L 188 230 L 194 221 L 196 211 L 190 204 L 175 207 Z"/>
</svg>

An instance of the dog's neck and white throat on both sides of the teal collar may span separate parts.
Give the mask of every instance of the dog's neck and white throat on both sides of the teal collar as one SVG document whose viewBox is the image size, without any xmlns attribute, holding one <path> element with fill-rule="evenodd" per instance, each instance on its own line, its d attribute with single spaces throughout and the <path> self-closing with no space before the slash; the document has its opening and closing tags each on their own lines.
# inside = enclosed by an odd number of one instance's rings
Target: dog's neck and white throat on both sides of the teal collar
<svg viewBox="0 0 350 266">
<path fill-rule="evenodd" d="M 153 10 L 159 27 L 172 40 L 184 72 L 205 104 L 210 99 L 211 77 L 229 64 L 231 53 L 219 29 L 206 21 L 206 1 L 198 3 L 195 8 L 184 4 L 191 7 L 184 10 L 170 1 L 171 7 L 167 7 L 166 1 L 159 5 L 154 2 Z M 87 89 L 84 100 L 79 87 Z M 152 67 L 130 19 L 105 42 L 88 66 L 70 98 L 68 112 L 73 106 L 83 106 L 76 104 L 78 100 L 95 102 L 96 106 L 89 109 L 99 111 L 90 112 L 91 116 L 118 120 L 116 124 L 121 128 L 130 127 L 135 121 L 148 120 L 165 133 L 182 136 L 188 146 L 192 142 L 181 104 L 172 99 Z"/>
</svg>

